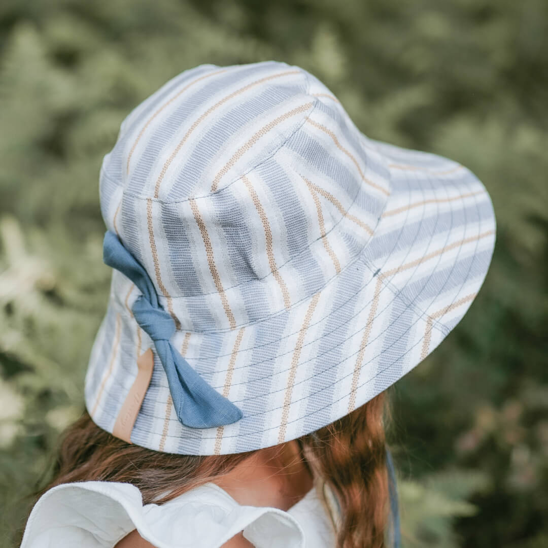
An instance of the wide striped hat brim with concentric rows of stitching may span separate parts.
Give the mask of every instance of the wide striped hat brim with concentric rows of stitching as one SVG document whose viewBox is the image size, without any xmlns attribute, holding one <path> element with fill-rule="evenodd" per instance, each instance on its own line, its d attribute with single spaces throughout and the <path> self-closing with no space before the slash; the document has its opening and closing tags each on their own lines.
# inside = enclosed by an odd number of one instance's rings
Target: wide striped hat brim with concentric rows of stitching
<svg viewBox="0 0 548 548">
<path fill-rule="evenodd" d="M 366 149 L 383 155 L 391 186 L 362 253 L 289 310 L 229 335 L 196 334 L 199 355 L 183 352 L 198 373 L 242 409 L 243 418 L 216 429 L 181 425 L 156 356 L 150 397 L 132 432 L 134 443 L 207 455 L 302 436 L 395 383 L 464 316 L 494 249 L 495 216 L 485 187 L 469 169 L 447 158 L 362 138 Z M 110 307 L 102 340 L 115 332 L 115 315 Z M 187 349 L 189 336 L 194 335 L 176 334 L 174 345 Z M 120 387 L 122 399 L 127 390 Z M 92 399 L 87 395 L 88 409 Z M 102 409 L 92 416 L 111 430 L 115 411 Z"/>
</svg>

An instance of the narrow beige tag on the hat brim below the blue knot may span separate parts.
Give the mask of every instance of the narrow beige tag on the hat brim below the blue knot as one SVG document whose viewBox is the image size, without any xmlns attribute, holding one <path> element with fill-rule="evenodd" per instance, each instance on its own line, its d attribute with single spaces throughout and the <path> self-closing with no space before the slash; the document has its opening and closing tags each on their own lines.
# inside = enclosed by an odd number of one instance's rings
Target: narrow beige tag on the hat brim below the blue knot
<svg viewBox="0 0 548 548">
<path fill-rule="evenodd" d="M 154 369 L 154 355 L 152 349 L 143 352 L 137 358 L 138 372 L 132 387 L 129 389 L 125 402 L 118 413 L 118 418 L 114 425 L 112 435 L 123 439 L 125 442 L 132 443 L 130 436 L 132 435 L 133 425 L 139 413 L 142 401 L 145 398 L 145 393 L 152 378 L 152 369 Z"/>
</svg>

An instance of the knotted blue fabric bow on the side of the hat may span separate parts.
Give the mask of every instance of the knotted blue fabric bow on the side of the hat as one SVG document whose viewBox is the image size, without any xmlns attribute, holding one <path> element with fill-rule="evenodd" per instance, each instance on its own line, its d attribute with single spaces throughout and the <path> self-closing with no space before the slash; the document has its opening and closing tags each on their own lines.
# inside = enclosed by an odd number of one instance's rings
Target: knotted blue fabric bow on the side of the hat
<svg viewBox="0 0 548 548">
<path fill-rule="evenodd" d="M 179 421 L 191 428 L 213 428 L 241 419 L 242 411 L 202 379 L 169 342 L 175 334 L 173 318 L 159 304 L 146 270 L 110 230 L 105 233 L 103 260 L 127 276 L 142 293 L 132 306 L 133 315 L 154 341 Z"/>
</svg>

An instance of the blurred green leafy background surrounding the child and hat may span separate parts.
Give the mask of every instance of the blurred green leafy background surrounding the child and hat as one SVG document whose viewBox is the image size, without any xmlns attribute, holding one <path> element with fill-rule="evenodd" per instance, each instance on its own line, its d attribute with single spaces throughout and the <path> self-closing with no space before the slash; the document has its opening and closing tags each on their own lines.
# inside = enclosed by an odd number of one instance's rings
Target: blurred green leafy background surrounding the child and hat
<svg viewBox="0 0 548 548">
<path fill-rule="evenodd" d="M 482 291 L 392 391 L 404 546 L 548 546 L 548 3 L 2 0 L 0 547 L 83 410 L 119 124 L 186 68 L 269 59 L 317 75 L 367 135 L 487 186 Z"/>
</svg>

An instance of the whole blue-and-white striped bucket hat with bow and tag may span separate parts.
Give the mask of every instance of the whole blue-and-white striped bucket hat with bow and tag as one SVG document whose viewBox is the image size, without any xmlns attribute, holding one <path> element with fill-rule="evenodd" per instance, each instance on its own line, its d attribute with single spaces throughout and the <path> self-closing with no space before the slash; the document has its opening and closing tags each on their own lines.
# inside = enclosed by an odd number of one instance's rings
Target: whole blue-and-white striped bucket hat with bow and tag
<svg viewBox="0 0 548 548">
<path fill-rule="evenodd" d="M 200 65 L 141 102 L 100 200 L 86 406 L 169 453 L 272 446 L 369 401 L 464 316 L 495 241 L 470 170 L 368 138 L 274 61 Z"/>
</svg>

